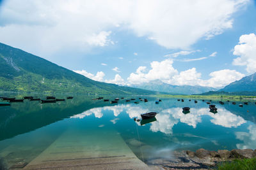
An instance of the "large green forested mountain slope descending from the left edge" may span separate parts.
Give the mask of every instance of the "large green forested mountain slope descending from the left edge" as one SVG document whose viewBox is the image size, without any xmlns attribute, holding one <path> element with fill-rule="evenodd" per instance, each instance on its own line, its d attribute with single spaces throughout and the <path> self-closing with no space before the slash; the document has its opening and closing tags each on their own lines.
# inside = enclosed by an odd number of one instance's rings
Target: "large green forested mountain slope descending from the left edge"
<svg viewBox="0 0 256 170">
<path fill-rule="evenodd" d="M 0 90 L 99 94 L 156 94 L 93 81 L 31 53 L 0 43 Z"/>
</svg>

